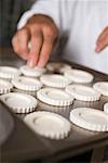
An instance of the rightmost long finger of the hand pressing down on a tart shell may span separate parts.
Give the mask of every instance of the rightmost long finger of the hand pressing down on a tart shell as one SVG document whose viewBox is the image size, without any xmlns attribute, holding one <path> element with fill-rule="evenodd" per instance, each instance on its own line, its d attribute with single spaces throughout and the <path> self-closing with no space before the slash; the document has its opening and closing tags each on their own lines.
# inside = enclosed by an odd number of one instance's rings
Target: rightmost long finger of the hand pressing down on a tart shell
<svg viewBox="0 0 108 163">
<path fill-rule="evenodd" d="M 38 66 L 39 67 L 43 67 L 46 62 L 49 61 L 49 58 L 53 51 L 53 48 L 54 48 L 54 40 L 52 39 L 48 39 L 45 38 L 44 41 L 43 41 L 43 46 L 42 46 L 42 49 L 41 49 L 41 53 L 40 53 L 40 57 L 39 57 L 39 61 L 38 61 Z"/>
</svg>

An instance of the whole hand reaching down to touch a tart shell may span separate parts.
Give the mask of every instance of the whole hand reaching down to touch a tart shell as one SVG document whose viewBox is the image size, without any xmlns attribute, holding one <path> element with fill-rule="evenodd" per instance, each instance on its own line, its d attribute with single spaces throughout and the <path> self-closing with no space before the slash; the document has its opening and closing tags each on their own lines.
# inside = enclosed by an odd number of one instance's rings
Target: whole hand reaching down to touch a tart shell
<svg viewBox="0 0 108 163">
<path fill-rule="evenodd" d="M 43 67 L 57 41 L 58 29 L 54 22 L 44 15 L 33 15 L 12 39 L 14 51 L 30 67 Z M 29 48 L 30 42 L 30 48 Z"/>
</svg>

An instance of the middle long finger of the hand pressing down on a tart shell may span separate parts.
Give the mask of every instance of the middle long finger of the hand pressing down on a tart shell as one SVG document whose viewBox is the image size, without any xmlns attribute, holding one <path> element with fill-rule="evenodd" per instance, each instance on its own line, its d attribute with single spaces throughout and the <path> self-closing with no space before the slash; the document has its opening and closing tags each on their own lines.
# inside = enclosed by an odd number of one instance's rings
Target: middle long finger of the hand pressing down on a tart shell
<svg viewBox="0 0 108 163">
<path fill-rule="evenodd" d="M 31 34 L 31 40 L 30 40 L 30 52 L 29 52 L 29 60 L 28 60 L 28 65 L 30 67 L 33 67 L 37 65 L 40 50 L 43 43 L 43 36 L 41 30 L 36 30 Z"/>
</svg>

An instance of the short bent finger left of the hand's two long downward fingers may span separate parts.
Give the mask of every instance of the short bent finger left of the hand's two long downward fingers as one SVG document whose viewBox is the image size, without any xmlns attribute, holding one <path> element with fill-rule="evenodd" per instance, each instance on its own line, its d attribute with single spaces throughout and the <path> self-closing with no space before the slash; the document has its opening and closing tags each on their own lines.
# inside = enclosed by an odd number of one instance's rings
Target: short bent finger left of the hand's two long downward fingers
<svg viewBox="0 0 108 163">
<path fill-rule="evenodd" d="M 26 60 L 29 57 L 29 49 L 28 49 L 29 39 L 30 39 L 30 33 L 27 28 L 18 32 L 17 35 L 17 41 L 19 47 L 18 53 L 22 58 L 25 58 Z"/>
</svg>

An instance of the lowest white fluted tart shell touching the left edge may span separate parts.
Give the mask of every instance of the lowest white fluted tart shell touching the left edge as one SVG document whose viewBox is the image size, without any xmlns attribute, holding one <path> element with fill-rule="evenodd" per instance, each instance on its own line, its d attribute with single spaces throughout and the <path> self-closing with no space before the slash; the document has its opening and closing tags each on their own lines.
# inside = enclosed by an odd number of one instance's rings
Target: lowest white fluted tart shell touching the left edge
<svg viewBox="0 0 108 163">
<path fill-rule="evenodd" d="M 36 110 L 37 99 L 30 95 L 9 92 L 0 96 L 0 100 L 15 113 L 29 113 Z"/>
</svg>

